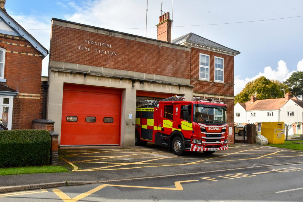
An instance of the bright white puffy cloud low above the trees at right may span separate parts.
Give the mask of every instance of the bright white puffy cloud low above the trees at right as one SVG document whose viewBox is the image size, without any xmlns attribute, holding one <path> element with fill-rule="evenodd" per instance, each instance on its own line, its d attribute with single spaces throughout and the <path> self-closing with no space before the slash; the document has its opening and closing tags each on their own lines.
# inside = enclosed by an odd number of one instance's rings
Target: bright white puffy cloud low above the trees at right
<svg viewBox="0 0 303 202">
<path fill-rule="evenodd" d="M 298 71 L 303 71 L 303 59 L 298 62 L 297 65 Z M 245 78 L 240 79 L 239 76 L 235 77 L 235 95 L 242 91 L 242 89 L 245 87 L 245 85 L 252 80 L 255 80 L 261 76 L 264 76 L 271 80 L 277 80 L 277 81 L 285 81 L 288 79 L 294 72 L 289 72 L 289 69 L 286 66 L 286 62 L 283 60 L 278 61 L 278 67 L 276 69 L 272 69 L 270 66 L 264 68 L 264 72 L 259 72 L 258 75 L 252 77 L 252 78 Z"/>
</svg>

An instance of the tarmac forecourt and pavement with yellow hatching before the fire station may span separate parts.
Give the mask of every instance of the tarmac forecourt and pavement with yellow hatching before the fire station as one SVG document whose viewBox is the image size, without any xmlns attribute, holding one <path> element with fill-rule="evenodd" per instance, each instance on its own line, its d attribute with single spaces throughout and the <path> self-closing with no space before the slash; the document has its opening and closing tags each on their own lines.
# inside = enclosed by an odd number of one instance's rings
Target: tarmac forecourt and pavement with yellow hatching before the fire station
<svg viewBox="0 0 303 202">
<path fill-rule="evenodd" d="M 229 145 L 227 151 L 211 155 L 186 152 L 176 156 L 155 144 L 134 148 L 61 147 L 59 154 L 59 164 L 68 167 L 69 172 L 0 176 L 0 193 L 303 163 L 303 151 L 257 144 Z"/>
</svg>

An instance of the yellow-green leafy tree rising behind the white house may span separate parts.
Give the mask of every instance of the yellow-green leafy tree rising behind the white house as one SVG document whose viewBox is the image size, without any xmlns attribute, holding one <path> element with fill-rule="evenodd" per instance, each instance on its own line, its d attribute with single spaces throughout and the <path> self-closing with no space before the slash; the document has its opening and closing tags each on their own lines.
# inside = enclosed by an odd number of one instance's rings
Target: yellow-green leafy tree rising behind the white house
<svg viewBox="0 0 303 202">
<path fill-rule="evenodd" d="M 287 86 L 280 81 L 261 76 L 245 85 L 245 88 L 235 96 L 235 104 L 249 101 L 252 95 L 255 95 L 258 100 L 284 98 L 284 91 L 280 89 L 285 89 L 285 93 L 289 91 Z"/>
</svg>

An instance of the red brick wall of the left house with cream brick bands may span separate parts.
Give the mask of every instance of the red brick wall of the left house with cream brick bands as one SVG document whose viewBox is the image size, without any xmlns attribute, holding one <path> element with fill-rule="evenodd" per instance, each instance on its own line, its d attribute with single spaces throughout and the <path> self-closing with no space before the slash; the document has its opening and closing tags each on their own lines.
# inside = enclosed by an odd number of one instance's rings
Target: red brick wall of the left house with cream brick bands
<svg viewBox="0 0 303 202">
<path fill-rule="evenodd" d="M 0 40 L 21 45 L 31 46 L 26 40 L 0 37 Z M 20 53 L 29 53 L 40 55 L 41 53 L 32 47 L 24 47 L 20 45 L 0 44 L 6 51 L 15 51 Z M 19 92 L 14 98 L 12 129 L 31 129 L 32 120 L 39 118 L 40 100 L 33 99 L 39 97 L 41 86 L 42 57 L 23 55 L 18 53 L 5 53 L 5 72 L 4 83 L 10 88 Z M 35 94 L 23 95 L 20 94 Z"/>
</svg>

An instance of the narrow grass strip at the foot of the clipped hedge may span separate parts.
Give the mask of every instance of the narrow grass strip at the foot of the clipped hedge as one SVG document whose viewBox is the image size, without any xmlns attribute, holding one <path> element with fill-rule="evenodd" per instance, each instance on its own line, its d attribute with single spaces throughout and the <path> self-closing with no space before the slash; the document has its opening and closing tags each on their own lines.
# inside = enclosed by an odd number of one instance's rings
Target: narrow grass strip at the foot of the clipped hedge
<svg viewBox="0 0 303 202">
<path fill-rule="evenodd" d="M 32 174 L 32 173 L 62 173 L 68 172 L 62 166 L 30 166 L 0 168 L 0 175 Z"/>
</svg>

